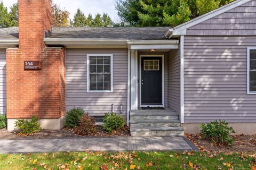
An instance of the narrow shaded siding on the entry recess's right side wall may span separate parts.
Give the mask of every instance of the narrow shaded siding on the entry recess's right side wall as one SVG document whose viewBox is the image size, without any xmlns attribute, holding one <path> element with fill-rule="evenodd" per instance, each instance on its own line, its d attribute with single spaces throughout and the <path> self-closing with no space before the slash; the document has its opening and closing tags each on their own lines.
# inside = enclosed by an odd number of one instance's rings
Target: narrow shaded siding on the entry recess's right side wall
<svg viewBox="0 0 256 170">
<path fill-rule="evenodd" d="M 180 50 L 169 52 L 168 107 L 180 114 Z"/>
</svg>

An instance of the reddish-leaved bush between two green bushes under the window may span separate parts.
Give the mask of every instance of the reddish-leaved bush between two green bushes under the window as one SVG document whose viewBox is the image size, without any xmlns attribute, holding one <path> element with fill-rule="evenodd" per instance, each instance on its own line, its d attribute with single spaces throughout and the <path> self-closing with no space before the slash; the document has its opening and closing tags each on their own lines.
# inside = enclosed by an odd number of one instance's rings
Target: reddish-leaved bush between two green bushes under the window
<svg viewBox="0 0 256 170">
<path fill-rule="evenodd" d="M 84 114 L 80 119 L 79 126 L 75 128 L 75 132 L 78 135 L 90 135 L 93 134 L 96 129 L 94 127 L 95 119 L 92 116 L 89 116 L 88 113 Z"/>
</svg>

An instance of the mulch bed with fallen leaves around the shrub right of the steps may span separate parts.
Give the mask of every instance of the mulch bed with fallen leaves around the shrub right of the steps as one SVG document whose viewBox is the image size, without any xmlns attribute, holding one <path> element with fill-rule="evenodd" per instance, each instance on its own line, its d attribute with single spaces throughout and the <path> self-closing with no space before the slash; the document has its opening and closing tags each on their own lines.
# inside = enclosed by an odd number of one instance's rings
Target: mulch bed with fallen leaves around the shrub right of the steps
<svg viewBox="0 0 256 170">
<path fill-rule="evenodd" d="M 203 151 L 217 152 L 253 152 L 256 151 L 256 135 L 234 135 L 232 146 L 214 146 L 209 141 L 201 139 L 200 135 L 186 134 L 186 137 Z"/>
</svg>

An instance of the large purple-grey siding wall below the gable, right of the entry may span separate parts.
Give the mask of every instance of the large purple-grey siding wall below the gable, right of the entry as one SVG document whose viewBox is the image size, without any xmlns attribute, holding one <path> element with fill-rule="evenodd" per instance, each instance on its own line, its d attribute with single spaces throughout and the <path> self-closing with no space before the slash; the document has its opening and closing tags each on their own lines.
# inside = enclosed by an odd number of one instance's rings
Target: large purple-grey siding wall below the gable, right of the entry
<svg viewBox="0 0 256 170">
<path fill-rule="evenodd" d="M 185 37 L 185 123 L 256 122 L 256 95 L 247 95 L 247 46 L 256 46 L 256 36 Z"/>
</svg>

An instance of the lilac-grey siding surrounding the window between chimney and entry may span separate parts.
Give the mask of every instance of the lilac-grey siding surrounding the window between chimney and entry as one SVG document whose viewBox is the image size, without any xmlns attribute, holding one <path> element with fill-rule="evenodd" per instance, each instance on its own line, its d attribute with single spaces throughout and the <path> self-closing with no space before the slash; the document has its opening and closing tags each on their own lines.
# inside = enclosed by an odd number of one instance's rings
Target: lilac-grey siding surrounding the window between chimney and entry
<svg viewBox="0 0 256 170">
<path fill-rule="evenodd" d="M 87 54 L 113 54 L 113 93 L 87 93 Z M 127 112 L 127 49 L 67 49 L 66 57 L 66 109 L 82 107 L 91 115 L 102 116 L 115 112 L 123 116 Z"/>
</svg>

